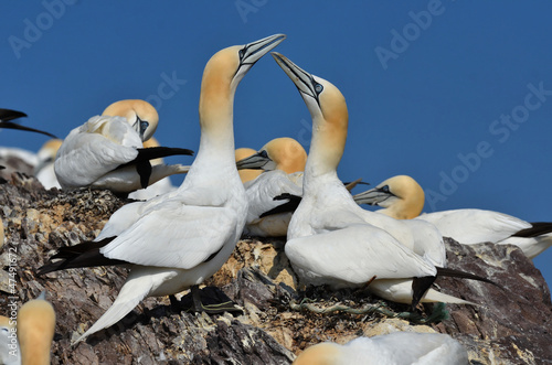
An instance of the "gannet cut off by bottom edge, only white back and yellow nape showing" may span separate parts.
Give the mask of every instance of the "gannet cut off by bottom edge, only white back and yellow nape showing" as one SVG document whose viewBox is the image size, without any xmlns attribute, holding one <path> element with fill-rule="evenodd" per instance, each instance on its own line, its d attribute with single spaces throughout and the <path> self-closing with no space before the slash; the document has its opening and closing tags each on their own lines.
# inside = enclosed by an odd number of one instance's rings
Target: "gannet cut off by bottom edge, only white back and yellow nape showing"
<svg viewBox="0 0 552 365">
<path fill-rule="evenodd" d="M 344 345 L 325 342 L 306 348 L 293 365 L 467 365 L 468 353 L 447 334 L 394 332 L 358 337 Z"/>
</svg>

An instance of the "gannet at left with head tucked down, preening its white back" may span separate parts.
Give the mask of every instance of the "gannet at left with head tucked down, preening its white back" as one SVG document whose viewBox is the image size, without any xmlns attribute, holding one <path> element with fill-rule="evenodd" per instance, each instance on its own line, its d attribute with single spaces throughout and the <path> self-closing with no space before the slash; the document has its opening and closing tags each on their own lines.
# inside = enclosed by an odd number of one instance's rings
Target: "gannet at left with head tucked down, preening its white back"
<svg viewBox="0 0 552 365">
<path fill-rule="evenodd" d="M 142 148 L 157 128 L 157 110 L 144 100 L 120 100 L 102 116 L 73 129 L 55 158 L 54 170 L 63 189 L 89 186 L 129 193 L 166 176 L 184 173 L 180 164 L 149 160 L 171 154 L 192 154 L 185 149 Z"/>
</svg>

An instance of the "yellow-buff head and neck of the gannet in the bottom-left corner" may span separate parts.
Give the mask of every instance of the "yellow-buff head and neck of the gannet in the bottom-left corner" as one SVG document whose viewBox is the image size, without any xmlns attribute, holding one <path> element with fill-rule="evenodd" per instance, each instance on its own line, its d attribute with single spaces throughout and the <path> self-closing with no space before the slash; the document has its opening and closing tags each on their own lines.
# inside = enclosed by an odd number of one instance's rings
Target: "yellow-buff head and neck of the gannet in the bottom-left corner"
<svg viewBox="0 0 552 365">
<path fill-rule="evenodd" d="M 49 365 L 55 312 L 44 293 L 20 308 L 17 328 L 22 364 Z"/>
</svg>

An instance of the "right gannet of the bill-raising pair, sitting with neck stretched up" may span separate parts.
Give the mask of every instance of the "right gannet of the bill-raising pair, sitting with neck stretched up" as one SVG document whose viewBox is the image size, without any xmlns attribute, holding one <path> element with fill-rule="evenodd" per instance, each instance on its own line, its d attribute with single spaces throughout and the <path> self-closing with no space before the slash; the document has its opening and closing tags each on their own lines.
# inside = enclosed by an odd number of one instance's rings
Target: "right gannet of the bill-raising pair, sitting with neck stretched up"
<svg viewBox="0 0 552 365">
<path fill-rule="evenodd" d="M 285 247 L 301 281 L 343 288 L 375 278 L 369 290 L 412 308 L 420 300 L 466 303 L 427 290 L 437 273 L 446 275 L 445 247 L 435 227 L 364 211 L 339 180 L 337 167 L 348 128 L 347 104 L 339 89 L 283 55 L 273 56 L 312 117 L 302 200 L 289 223 Z"/>
</svg>

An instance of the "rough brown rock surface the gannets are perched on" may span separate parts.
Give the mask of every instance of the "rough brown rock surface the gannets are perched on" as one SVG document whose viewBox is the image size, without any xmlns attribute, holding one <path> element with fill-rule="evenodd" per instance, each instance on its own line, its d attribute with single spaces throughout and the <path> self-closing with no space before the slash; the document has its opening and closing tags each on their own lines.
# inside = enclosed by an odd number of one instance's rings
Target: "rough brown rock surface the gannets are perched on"
<svg viewBox="0 0 552 365">
<path fill-rule="evenodd" d="M 57 247 L 93 239 L 110 214 L 129 201 L 105 191 L 45 191 L 32 178 L 11 178 L 0 185 L 7 236 L 0 275 L 9 278 L 11 265 L 17 276 L 14 286 L 2 280 L 0 308 L 7 308 L 10 298 L 20 307 L 47 291 L 57 314 L 52 364 L 290 364 L 295 354 L 322 341 L 344 343 L 395 331 L 448 333 L 465 345 L 471 364 L 552 363 L 552 304 L 539 270 L 513 246 L 467 247 L 449 239 L 449 267 L 488 277 L 503 289 L 438 279 L 442 291 L 480 304 L 447 305 L 449 318 L 438 324 L 389 318 L 381 312 L 400 313 L 406 305 L 382 301 L 365 290 L 297 291 L 283 240 L 243 239 L 202 290 L 205 301 L 231 298 L 243 315 L 187 313 L 185 296 L 179 308 L 167 298 L 149 298 L 114 326 L 72 347 L 71 341 L 112 304 L 126 269 L 75 269 L 44 277 L 36 277 L 34 269 Z M 316 300 L 315 308 L 380 307 L 364 314 L 293 310 L 305 296 Z M 424 308 L 425 314 L 432 307 Z"/>
</svg>

